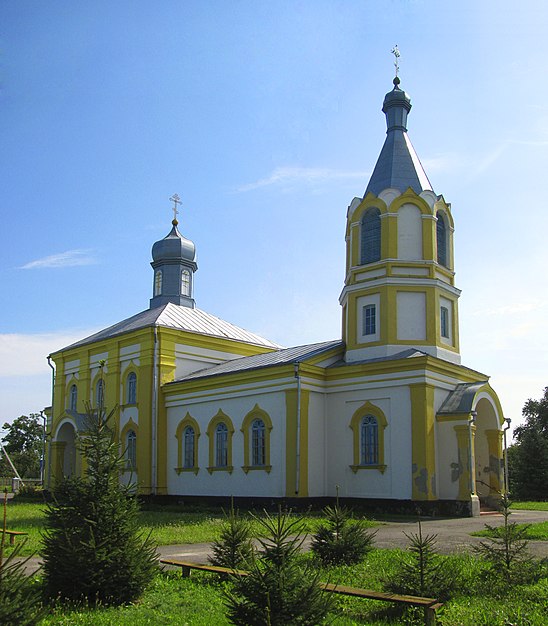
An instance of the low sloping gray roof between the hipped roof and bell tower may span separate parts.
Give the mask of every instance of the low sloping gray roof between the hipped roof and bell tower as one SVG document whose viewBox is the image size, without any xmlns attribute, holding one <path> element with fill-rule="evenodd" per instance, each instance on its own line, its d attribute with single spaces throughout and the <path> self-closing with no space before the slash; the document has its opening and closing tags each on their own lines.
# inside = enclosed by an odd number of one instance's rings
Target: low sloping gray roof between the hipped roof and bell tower
<svg viewBox="0 0 548 626">
<path fill-rule="evenodd" d="M 182 382 L 186 380 L 195 380 L 197 378 L 208 378 L 210 376 L 220 376 L 222 374 L 233 374 L 235 372 L 243 372 L 263 367 L 274 367 L 277 365 L 288 365 L 291 363 L 300 363 L 306 359 L 327 352 L 333 348 L 343 348 L 344 343 L 340 340 L 323 341 L 321 343 L 312 343 L 305 346 L 296 346 L 293 348 L 283 348 L 275 352 L 267 352 L 266 354 L 256 354 L 253 356 L 241 357 L 231 361 L 225 361 L 213 367 L 204 368 L 196 372 L 192 372 L 183 378 L 179 378 L 174 382 Z M 169 384 L 169 383 L 168 383 Z"/>
</svg>

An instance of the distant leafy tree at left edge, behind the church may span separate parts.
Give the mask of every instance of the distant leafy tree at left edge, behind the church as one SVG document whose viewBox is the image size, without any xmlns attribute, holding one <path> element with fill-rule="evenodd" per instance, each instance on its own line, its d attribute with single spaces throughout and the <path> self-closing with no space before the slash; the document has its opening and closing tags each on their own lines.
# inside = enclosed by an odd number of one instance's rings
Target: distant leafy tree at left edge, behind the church
<svg viewBox="0 0 548 626">
<path fill-rule="evenodd" d="M 38 478 L 43 437 L 40 414 L 21 415 L 13 422 L 5 423 L 2 428 L 6 431 L 2 444 L 21 478 Z M 13 475 L 13 470 L 3 455 L 0 473 L 4 476 Z"/>
</svg>

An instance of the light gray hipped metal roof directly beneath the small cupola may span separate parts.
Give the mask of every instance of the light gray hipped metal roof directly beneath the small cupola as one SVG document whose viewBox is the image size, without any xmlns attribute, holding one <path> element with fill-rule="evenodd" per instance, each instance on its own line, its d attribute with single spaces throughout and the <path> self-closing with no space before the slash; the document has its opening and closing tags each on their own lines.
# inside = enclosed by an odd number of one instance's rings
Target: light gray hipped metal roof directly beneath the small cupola
<svg viewBox="0 0 548 626">
<path fill-rule="evenodd" d="M 235 341 L 266 346 L 268 348 L 280 347 L 278 344 L 269 341 L 268 339 L 264 339 L 263 337 L 235 326 L 230 322 L 225 322 L 210 313 L 206 313 L 200 309 L 192 309 L 190 307 L 180 306 L 169 302 L 164 306 L 147 309 L 146 311 L 137 313 L 137 315 L 134 315 L 133 317 L 128 317 L 126 320 L 122 320 L 113 326 L 109 326 L 94 335 L 86 337 L 85 339 L 63 348 L 63 350 L 69 350 L 89 343 L 103 341 L 105 339 L 110 339 L 111 337 L 116 337 L 118 335 L 123 335 L 125 333 L 130 333 L 132 331 L 150 326 L 175 328 L 177 330 L 184 330 L 190 333 L 233 339 Z"/>
</svg>

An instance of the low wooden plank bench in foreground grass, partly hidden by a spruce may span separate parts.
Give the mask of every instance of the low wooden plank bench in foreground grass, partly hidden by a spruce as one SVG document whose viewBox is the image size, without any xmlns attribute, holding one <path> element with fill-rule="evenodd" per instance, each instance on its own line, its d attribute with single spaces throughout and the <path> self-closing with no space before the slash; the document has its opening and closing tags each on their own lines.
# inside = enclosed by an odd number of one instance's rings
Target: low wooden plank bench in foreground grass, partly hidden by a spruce
<svg viewBox="0 0 548 626">
<path fill-rule="evenodd" d="M 201 570 L 203 572 L 214 572 L 224 576 L 248 576 L 249 572 L 242 569 L 231 569 L 229 567 L 219 567 L 218 565 L 205 565 L 202 563 L 192 563 L 190 561 L 181 561 L 179 559 L 160 559 L 160 563 L 180 567 L 182 575 L 190 576 L 191 570 Z M 435 598 L 422 598 L 420 596 L 405 596 L 395 593 L 386 593 L 384 591 L 372 591 L 370 589 L 358 589 L 356 587 L 346 587 L 344 585 L 333 585 L 332 583 L 320 583 L 325 591 L 330 593 L 338 593 L 344 596 L 353 596 L 354 598 L 367 598 L 369 600 L 380 600 L 382 602 L 396 602 L 398 604 L 407 604 L 408 606 L 417 606 L 424 609 L 424 623 L 426 626 L 433 626 L 436 623 L 436 611 L 443 606 L 441 602 Z"/>
</svg>

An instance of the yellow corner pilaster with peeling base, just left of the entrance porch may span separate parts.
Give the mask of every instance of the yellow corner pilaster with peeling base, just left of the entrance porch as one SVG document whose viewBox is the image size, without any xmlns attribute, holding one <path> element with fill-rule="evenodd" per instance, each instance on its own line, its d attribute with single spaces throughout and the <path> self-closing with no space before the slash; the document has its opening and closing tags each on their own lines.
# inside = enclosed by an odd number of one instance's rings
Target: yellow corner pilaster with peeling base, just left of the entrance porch
<svg viewBox="0 0 548 626">
<path fill-rule="evenodd" d="M 436 500 L 436 442 L 432 385 L 409 385 L 411 393 L 413 500 Z"/>
</svg>

